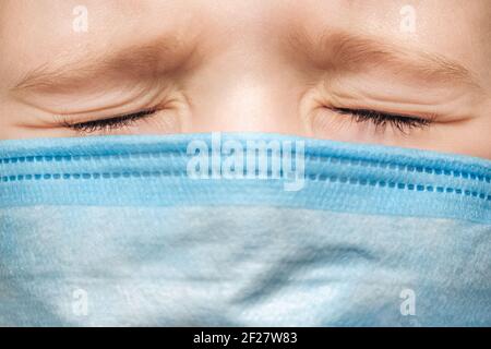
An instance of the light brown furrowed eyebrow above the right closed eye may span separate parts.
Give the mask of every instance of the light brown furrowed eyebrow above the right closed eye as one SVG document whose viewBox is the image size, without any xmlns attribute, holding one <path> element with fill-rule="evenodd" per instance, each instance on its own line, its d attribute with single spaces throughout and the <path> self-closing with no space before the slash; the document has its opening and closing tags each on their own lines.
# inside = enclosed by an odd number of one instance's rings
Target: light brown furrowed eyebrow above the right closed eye
<svg viewBox="0 0 491 349">
<path fill-rule="evenodd" d="M 380 37 L 333 29 L 315 37 L 297 31 L 288 36 L 288 45 L 326 71 L 362 73 L 382 68 L 414 80 L 462 83 L 481 89 L 470 70 L 455 60 L 394 45 Z"/>
</svg>

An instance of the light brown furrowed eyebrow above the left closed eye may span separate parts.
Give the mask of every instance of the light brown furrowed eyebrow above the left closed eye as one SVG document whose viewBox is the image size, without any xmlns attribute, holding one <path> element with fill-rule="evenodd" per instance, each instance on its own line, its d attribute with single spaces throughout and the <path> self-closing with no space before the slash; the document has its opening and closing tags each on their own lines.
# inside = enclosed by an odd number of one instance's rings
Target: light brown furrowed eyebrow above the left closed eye
<svg viewBox="0 0 491 349">
<path fill-rule="evenodd" d="M 59 93 L 76 91 L 84 83 L 109 76 L 113 79 L 156 79 L 178 69 L 190 51 L 176 38 L 158 39 L 106 53 L 58 57 L 28 71 L 12 91 Z M 63 61 L 63 63 L 57 63 Z"/>
</svg>

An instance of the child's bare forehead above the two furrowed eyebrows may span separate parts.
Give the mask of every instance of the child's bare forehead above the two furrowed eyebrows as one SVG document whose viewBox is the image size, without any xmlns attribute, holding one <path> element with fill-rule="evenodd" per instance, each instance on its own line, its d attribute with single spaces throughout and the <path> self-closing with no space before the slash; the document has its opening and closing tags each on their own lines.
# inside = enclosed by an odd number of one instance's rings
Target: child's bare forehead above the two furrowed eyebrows
<svg viewBox="0 0 491 349">
<path fill-rule="evenodd" d="M 86 33 L 73 28 L 84 15 L 80 9 L 79 0 L 3 0 L 0 53 L 19 65 L 166 35 L 184 41 L 199 35 L 204 46 L 226 48 L 243 40 L 268 45 L 288 32 L 319 36 L 336 27 L 446 52 L 470 65 L 491 56 L 491 0 L 86 0 Z M 402 29 L 407 21 L 415 21 L 414 31 Z M 476 55 L 477 48 L 486 55 Z"/>
</svg>

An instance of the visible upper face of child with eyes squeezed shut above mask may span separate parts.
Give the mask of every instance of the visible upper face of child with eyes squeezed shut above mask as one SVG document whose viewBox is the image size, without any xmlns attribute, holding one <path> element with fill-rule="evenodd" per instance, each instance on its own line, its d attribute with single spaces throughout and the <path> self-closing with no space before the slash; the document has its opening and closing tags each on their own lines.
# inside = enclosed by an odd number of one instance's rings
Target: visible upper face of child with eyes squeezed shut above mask
<svg viewBox="0 0 491 349">
<path fill-rule="evenodd" d="M 250 131 L 491 158 L 491 0 L 1 0 L 0 57 L 0 139 Z"/>
</svg>

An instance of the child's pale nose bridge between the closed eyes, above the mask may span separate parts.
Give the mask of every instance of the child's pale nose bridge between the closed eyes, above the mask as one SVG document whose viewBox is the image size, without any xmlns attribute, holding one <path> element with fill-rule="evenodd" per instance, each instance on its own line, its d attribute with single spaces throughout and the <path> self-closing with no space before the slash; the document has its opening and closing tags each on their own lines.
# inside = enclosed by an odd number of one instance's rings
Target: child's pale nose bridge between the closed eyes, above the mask
<svg viewBox="0 0 491 349">
<path fill-rule="evenodd" d="M 236 45 L 196 76 L 207 83 L 192 92 L 192 131 L 298 133 L 294 75 L 268 50 Z"/>
</svg>

